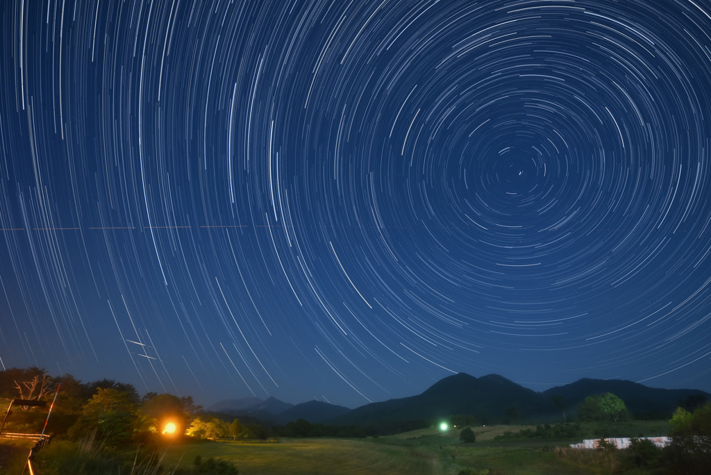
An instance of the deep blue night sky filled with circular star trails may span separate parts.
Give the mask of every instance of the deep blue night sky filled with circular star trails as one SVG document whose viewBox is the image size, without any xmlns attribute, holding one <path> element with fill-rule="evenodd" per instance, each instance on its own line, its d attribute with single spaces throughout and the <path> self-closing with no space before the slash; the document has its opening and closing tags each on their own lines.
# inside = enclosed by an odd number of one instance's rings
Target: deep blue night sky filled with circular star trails
<svg viewBox="0 0 711 475">
<path fill-rule="evenodd" d="M 0 9 L 1 368 L 711 391 L 710 1 Z"/>
</svg>

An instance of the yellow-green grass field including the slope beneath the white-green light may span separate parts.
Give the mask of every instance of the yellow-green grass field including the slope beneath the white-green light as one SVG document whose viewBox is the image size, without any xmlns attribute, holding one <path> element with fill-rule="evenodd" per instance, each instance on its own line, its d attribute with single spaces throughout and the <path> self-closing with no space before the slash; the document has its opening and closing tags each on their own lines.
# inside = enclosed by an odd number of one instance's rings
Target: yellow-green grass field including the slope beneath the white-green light
<svg viewBox="0 0 711 475">
<path fill-rule="evenodd" d="M 656 423 L 634 422 L 626 435 L 647 434 Z M 211 442 L 166 447 L 161 464 L 187 467 L 196 455 L 203 460 L 230 461 L 240 475 L 456 475 L 462 469 L 477 474 L 609 474 L 604 460 L 581 462 L 561 457 L 560 449 L 574 440 L 520 439 L 494 441 L 506 431 L 531 426 L 472 427 L 474 444 L 459 444 L 461 428 L 440 432 L 422 429 L 368 439 L 279 439 L 274 442 Z M 535 428 L 535 427 L 534 427 Z M 592 432 L 594 426 L 589 427 Z M 655 434 L 658 435 L 658 434 Z M 592 455 L 592 454 L 591 454 Z M 596 459 L 596 460 L 597 460 Z"/>
</svg>

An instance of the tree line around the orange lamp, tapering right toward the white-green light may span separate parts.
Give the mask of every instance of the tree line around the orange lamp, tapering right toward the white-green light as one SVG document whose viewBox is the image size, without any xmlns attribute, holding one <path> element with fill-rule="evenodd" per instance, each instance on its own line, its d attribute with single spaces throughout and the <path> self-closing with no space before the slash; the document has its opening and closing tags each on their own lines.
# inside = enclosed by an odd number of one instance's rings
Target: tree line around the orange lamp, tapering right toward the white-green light
<svg viewBox="0 0 711 475">
<path fill-rule="evenodd" d="M 196 439 L 267 439 L 269 437 L 368 437 L 427 427 L 423 420 L 383 422 L 378 426 L 331 426 L 304 419 L 267 425 L 254 417 L 205 412 L 191 396 L 146 393 L 134 385 L 102 379 L 83 383 L 73 375 L 52 376 L 37 367 L 0 371 L 0 398 L 51 402 L 61 385 L 48 433 L 78 440 L 95 432 L 103 443 L 119 447 L 151 437 L 186 434 Z M 4 432 L 38 433 L 47 409 L 14 406 Z"/>
</svg>

